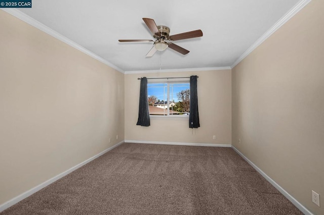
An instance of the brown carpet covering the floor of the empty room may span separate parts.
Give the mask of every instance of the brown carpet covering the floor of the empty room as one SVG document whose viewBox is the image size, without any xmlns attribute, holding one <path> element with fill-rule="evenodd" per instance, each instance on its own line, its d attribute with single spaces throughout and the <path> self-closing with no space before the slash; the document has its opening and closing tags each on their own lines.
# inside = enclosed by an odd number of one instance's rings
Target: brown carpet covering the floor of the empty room
<svg viewBox="0 0 324 215">
<path fill-rule="evenodd" d="M 303 214 L 233 149 L 124 143 L 0 214 Z"/>
</svg>

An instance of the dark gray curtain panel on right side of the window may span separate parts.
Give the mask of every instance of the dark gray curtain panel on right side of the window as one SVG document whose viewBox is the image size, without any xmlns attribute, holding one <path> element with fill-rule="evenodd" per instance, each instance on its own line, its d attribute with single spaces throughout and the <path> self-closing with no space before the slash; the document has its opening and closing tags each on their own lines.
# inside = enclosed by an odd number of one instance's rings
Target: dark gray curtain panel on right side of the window
<svg viewBox="0 0 324 215">
<path fill-rule="evenodd" d="M 198 96 L 197 96 L 197 76 L 190 76 L 190 106 L 189 106 L 189 128 L 198 128 Z"/>
</svg>

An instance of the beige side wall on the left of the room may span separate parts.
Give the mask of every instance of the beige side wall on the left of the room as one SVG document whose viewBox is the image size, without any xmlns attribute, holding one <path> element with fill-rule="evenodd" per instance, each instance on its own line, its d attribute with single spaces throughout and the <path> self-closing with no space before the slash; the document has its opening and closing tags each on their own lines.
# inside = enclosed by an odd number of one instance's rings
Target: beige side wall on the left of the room
<svg viewBox="0 0 324 215">
<path fill-rule="evenodd" d="M 124 74 L 2 10 L 0 29 L 1 205 L 124 140 Z"/>
</svg>

